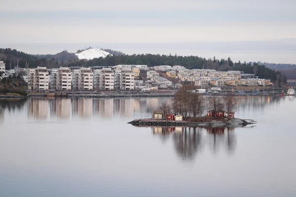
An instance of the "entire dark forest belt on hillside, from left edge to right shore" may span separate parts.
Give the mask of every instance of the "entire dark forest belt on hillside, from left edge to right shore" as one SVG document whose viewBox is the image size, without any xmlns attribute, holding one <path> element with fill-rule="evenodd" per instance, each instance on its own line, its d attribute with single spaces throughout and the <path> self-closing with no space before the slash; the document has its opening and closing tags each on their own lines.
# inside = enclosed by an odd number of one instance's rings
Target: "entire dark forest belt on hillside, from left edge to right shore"
<svg viewBox="0 0 296 197">
<path fill-rule="evenodd" d="M 67 58 L 67 51 L 59 53 L 60 57 Z M 57 55 L 57 54 L 56 54 Z M 287 78 L 282 75 L 280 71 L 267 68 L 264 65 L 258 63 L 241 63 L 240 61 L 235 63 L 229 57 L 228 59 L 217 60 L 215 57 L 210 59 L 201 58 L 198 56 L 177 56 L 177 55 L 153 55 L 153 54 L 141 54 L 141 55 L 112 55 L 105 58 L 96 58 L 93 60 L 77 60 L 68 58 L 65 61 L 55 59 L 54 57 L 32 56 L 24 52 L 19 52 L 15 49 L 0 49 L 0 61 L 6 63 L 6 69 L 14 68 L 17 65 L 19 67 L 25 67 L 26 63 L 29 63 L 29 67 L 46 66 L 48 68 L 55 68 L 60 66 L 115 66 L 119 64 L 129 65 L 148 65 L 148 66 L 160 66 L 160 65 L 181 65 L 188 69 L 194 68 L 207 68 L 216 69 L 219 71 L 239 70 L 245 73 L 255 74 L 259 78 L 270 79 L 281 86 L 286 83 Z"/>
</svg>

